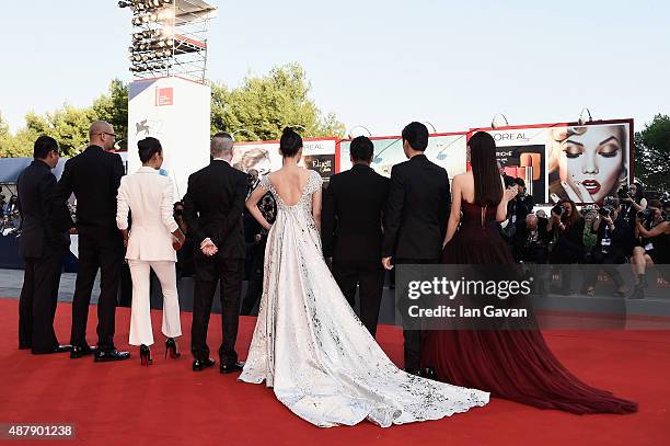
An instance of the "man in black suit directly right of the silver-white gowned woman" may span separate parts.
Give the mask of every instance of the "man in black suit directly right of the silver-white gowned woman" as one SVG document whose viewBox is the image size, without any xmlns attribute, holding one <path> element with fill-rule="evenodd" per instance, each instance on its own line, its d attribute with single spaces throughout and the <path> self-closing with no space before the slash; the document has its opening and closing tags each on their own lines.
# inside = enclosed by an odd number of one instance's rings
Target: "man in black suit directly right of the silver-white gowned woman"
<svg viewBox="0 0 670 446">
<path fill-rule="evenodd" d="M 333 276 L 351 308 L 360 287 L 360 320 L 372 336 L 384 285 L 379 259 L 389 194 L 389 180 L 370 168 L 373 149 L 365 136 L 351 141 L 354 167 L 331 178 L 322 210 L 323 251 L 333 258 Z"/>
</svg>

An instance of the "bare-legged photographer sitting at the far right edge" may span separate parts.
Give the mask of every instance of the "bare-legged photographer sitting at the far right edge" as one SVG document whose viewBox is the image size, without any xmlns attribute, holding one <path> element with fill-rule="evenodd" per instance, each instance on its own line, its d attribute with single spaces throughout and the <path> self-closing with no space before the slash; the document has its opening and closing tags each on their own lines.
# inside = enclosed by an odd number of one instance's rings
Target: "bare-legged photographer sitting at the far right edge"
<svg viewBox="0 0 670 446">
<path fill-rule="evenodd" d="M 633 249 L 631 258 L 637 276 L 632 299 L 645 297 L 644 288 L 648 286 L 647 266 L 670 263 L 670 222 L 661 211 L 661 206 L 658 199 L 651 199 L 647 208 L 636 215 L 635 237 L 640 240 L 640 244 Z"/>
</svg>

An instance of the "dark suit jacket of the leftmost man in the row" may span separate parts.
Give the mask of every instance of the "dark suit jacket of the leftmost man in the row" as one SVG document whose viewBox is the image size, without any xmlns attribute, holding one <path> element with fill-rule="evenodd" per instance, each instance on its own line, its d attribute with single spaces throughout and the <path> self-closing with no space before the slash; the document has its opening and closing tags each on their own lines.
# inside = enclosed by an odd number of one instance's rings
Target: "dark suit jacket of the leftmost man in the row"
<svg viewBox="0 0 670 446">
<path fill-rule="evenodd" d="M 21 255 L 24 258 L 43 258 L 56 249 L 65 249 L 70 237 L 56 229 L 55 215 L 68 216 L 65 204 L 54 206 L 53 194 L 56 188 L 56 176 L 44 161 L 34 160 L 19 175 L 19 211 L 21 214 L 21 237 L 19 239 Z"/>
</svg>

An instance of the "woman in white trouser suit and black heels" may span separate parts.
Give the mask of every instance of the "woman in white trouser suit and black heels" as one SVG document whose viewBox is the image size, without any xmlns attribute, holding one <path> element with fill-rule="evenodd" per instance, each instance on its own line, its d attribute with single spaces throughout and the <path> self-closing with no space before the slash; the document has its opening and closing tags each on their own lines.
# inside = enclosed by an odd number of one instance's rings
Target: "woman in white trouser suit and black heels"
<svg viewBox="0 0 670 446">
<path fill-rule="evenodd" d="M 142 139 L 138 142 L 138 148 L 142 167 L 136 173 L 122 179 L 116 222 L 127 244 L 126 259 L 132 277 L 129 343 L 143 345 L 142 348 L 148 351 L 147 347 L 153 344 L 149 268 L 153 268 L 163 290 L 162 332 L 168 338 L 168 344 L 174 345 L 174 338 L 182 334 L 173 241 L 176 239 L 178 244 L 183 244 L 184 235 L 172 213 L 172 181 L 158 173 L 163 163 L 163 150 L 159 140 L 151 137 Z M 129 231 L 128 210 L 132 219 Z"/>
</svg>

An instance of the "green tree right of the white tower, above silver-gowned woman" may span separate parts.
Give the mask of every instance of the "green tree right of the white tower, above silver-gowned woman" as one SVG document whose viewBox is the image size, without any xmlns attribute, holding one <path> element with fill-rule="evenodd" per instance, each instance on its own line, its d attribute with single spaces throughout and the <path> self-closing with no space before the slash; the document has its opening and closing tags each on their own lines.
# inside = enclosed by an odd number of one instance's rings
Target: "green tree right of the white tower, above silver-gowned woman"
<svg viewBox="0 0 670 446">
<path fill-rule="evenodd" d="M 286 126 L 304 137 L 342 136 L 345 126 L 324 115 L 309 98 L 310 82 L 298 64 L 275 67 L 263 77 L 247 76 L 242 85 L 211 85 L 211 131 L 233 131 L 238 140 L 279 139 Z"/>
</svg>

